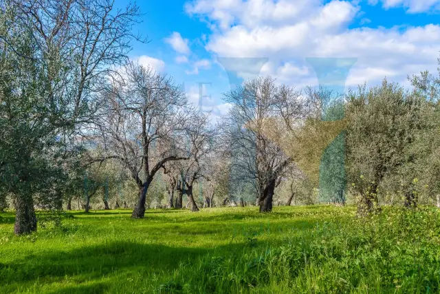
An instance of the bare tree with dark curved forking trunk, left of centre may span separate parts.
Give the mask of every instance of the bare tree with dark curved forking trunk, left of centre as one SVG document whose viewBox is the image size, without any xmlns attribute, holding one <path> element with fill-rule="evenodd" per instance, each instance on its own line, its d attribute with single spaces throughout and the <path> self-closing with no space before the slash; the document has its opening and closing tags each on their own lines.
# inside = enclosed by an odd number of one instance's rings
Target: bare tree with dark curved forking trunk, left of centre
<svg viewBox="0 0 440 294">
<path fill-rule="evenodd" d="M 166 162 L 187 160 L 195 109 L 172 78 L 134 63 L 122 71 L 104 94 L 104 112 L 94 134 L 104 146 L 102 160 L 117 158 L 129 170 L 139 188 L 132 218 L 143 218 L 146 193 L 157 171 Z M 188 152 L 189 149 L 189 152 Z"/>
</svg>

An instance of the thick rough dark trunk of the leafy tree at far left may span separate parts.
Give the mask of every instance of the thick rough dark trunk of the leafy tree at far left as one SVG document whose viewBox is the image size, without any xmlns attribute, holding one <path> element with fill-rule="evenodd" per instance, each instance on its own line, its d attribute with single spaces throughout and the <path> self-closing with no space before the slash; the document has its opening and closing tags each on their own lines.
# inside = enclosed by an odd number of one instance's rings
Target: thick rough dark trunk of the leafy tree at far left
<svg viewBox="0 0 440 294">
<path fill-rule="evenodd" d="M 32 197 L 17 196 L 15 211 L 14 233 L 16 235 L 36 231 L 36 215 Z"/>
</svg>

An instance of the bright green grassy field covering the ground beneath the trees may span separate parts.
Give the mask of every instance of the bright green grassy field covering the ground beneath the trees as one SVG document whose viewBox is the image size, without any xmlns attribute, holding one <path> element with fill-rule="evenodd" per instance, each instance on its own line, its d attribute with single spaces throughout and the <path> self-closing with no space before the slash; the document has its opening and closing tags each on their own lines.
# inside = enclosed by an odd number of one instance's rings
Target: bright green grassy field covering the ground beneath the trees
<svg viewBox="0 0 440 294">
<path fill-rule="evenodd" d="M 355 207 L 0 214 L 0 293 L 439 293 L 440 213 Z"/>
</svg>

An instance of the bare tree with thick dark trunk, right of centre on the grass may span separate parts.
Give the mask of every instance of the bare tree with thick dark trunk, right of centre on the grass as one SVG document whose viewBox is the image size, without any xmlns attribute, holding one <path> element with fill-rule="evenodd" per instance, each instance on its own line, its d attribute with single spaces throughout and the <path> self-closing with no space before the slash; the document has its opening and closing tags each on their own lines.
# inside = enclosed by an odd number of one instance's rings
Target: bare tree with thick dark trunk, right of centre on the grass
<svg viewBox="0 0 440 294">
<path fill-rule="evenodd" d="M 224 100 L 232 109 L 222 122 L 223 151 L 239 178 L 253 183 L 260 211 L 272 211 L 274 189 L 292 163 L 280 144 L 283 130 L 303 117 L 300 93 L 267 76 L 245 82 Z"/>
</svg>

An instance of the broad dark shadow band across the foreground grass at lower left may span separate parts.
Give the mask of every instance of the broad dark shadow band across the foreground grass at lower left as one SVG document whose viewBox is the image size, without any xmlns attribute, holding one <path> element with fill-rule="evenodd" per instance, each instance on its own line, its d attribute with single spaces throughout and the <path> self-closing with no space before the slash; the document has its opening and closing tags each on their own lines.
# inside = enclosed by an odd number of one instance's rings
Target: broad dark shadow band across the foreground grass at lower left
<svg viewBox="0 0 440 294">
<path fill-rule="evenodd" d="M 263 243 L 260 245 L 263 246 Z M 32 284 L 36 280 L 59 282 L 66 276 L 73 277 L 80 284 L 126 271 L 148 271 L 162 275 L 164 272 L 172 273 L 181 263 L 192 264 L 208 253 L 229 254 L 245 248 L 246 244 L 196 249 L 135 242 L 109 242 L 72 251 L 45 251 L 2 264 L 0 284 Z"/>
</svg>

